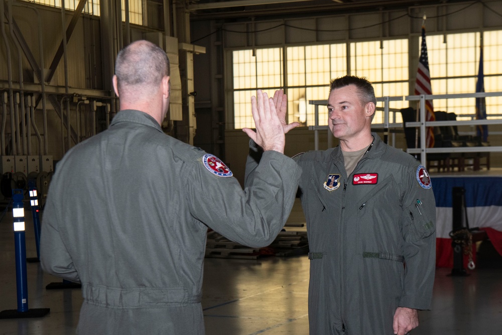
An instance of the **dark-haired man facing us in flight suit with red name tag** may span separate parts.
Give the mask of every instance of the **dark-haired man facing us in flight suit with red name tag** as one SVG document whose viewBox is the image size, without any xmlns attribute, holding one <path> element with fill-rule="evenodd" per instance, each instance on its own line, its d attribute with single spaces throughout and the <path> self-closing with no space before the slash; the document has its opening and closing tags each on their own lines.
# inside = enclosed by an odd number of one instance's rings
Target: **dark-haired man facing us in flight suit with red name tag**
<svg viewBox="0 0 502 335">
<path fill-rule="evenodd" d="M 312 335 L 404 335 L 431 306 L 431 180 L 415 158 L 371 133 L 375 106 L 365 78 L 332 80 L 328 124 L 340 145 L 294 157 L 303 171 Z M 260 160 L 256 145 L 250 153 L 248 171 Z"/>
</svg>

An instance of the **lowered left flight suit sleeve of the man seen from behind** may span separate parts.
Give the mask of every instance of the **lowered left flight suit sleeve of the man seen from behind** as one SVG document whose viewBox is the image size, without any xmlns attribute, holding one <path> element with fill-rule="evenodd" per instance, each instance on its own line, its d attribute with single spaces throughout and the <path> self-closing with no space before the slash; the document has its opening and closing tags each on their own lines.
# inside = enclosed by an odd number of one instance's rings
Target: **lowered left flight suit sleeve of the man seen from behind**
<svg viewBox="0 0 502 335">
<path fill-rule="evenodd" d="M 73 266 L 73 261 L 66 248 L 64 237 L 59 230 L 61 219 L 58 210 L 61 210 L 61 208 L 58 208 L 57 205 L 55 184 L 53 180 L 42 216 L 40 262 L 45 272 L 79 283 L 80 278 Z"/>
</svg>

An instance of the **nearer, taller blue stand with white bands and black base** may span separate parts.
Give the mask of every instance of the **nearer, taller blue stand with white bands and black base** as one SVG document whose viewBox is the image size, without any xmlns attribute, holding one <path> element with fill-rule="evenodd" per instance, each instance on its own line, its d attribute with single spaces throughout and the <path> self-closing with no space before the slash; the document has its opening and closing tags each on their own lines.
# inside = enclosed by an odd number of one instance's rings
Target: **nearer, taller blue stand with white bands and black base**
<svg viewBox="0 0 502 335">
<path fill-rule="evenodd" d="M 12 211 L 14 216 L 14 242 L 16 251 L 16 286 L 18 293 L 18 309 L 3 310 L 0 319 L 41 317 L 49 313 L 50 308 L 28 308 L 28 282 L 26 279 L 26 238 L 25 213 L 23 206 L 23 190 L 12 190 Z"/>
</svg>

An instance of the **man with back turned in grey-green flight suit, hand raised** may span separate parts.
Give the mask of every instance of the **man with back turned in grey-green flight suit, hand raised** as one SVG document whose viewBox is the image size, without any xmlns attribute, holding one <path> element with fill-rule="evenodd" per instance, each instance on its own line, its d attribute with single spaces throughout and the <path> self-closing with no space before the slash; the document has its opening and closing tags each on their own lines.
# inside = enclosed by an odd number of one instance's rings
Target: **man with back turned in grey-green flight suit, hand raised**
<svg viewBox="0 0 502 335">
<path fill-rule="evenodd" d="M 252 100 L 265 150 L 244 189 L 217 157 L 162 132 L 169 60 L 147 41 L 117 56 L 120 111 L 110 127 L 58 163 L 43 213 L 45 271 L 80 282 L 80 334 L 203 334 L 208 227 L 243 245 L 269 245 L 284 226 L 301 169 L 283 155 L 274 102 Z M 284 127 L 284 128 L 283 128 Z"/>
</svg>

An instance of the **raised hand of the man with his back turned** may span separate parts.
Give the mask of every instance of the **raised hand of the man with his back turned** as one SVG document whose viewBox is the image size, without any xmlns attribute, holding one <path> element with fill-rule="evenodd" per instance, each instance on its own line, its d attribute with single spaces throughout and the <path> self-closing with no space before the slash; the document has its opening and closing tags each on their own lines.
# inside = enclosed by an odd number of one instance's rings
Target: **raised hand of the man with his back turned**
<svg viewBox="0 0 502 335">
<path fill-rule="evenodd" d="M 286 110 L 285 105 L 287 103 L 283 103 L 283 95 L 281 95 L 280 101 L 280 109 L 284 108 Z M 262 147 L 264 151 L 275 150 L 284 153 L 284 145 L 286 143 L 284 134 L 287 132 L 284 128 L 286 121 L 282 122 L 280 119 L 274 99 L 269 98 L 267 93 L 259 89 L 257 96 L 251 97 L 251 110 L 253 119 L 255 120 L 256 132 L 249 128 L 243 128 L 242 131 Z"/>
</svg>

